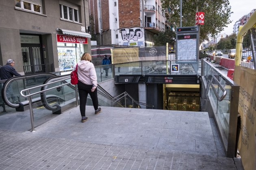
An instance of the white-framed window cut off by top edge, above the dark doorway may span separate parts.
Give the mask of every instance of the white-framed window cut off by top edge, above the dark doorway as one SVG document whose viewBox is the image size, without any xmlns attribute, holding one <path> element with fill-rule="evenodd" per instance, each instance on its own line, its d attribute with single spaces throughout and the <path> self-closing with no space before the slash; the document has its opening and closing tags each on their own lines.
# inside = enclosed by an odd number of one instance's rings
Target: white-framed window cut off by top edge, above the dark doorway
<svg viewBox="0 0 256 170">
<path fill-rule="evenodd" d="M 31 1 L 31 3 L 29 3 Z M 41 11 L 41 0 L 37 0 L 33 4 L 33 0 L 26 0 L 26 2 L 23 2 L 22 0 L 15 0 L 15 7 L 22 8 L 28 11 L 36 12 L 36 13 L 42 13 Z"/>
</svg>

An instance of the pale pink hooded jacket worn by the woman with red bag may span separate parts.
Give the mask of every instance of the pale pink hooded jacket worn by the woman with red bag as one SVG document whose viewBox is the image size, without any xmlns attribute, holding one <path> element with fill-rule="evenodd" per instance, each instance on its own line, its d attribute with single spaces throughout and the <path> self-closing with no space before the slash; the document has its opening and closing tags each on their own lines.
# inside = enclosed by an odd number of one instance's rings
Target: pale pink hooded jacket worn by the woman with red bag
<svg viewBox="0 0 256 170">
<path fill-rule="evenodd" d="M 74 69 L 76 70 L 76 66 L 74 66 Z M 81 60 L 78 62 L 78 80 L 86 85 L 94 85 L 97 87 L 97 75 L 94 68 L 94 65 L 86 60 Z"/>
</svg>

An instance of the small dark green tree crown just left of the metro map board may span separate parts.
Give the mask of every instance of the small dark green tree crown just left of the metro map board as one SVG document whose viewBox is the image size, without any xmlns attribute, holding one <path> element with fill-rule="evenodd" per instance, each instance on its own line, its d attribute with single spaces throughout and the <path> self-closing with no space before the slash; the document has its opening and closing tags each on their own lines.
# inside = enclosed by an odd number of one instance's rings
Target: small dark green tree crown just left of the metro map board
<svg viewBox="0 0 256 170">
<path fill-rule="evenodd" d="M 154 46 L 165 46 L 166 43 L 175 43 L 176 34 L 172 30 L 160 31 L 154 35 Z"/>
</svg>

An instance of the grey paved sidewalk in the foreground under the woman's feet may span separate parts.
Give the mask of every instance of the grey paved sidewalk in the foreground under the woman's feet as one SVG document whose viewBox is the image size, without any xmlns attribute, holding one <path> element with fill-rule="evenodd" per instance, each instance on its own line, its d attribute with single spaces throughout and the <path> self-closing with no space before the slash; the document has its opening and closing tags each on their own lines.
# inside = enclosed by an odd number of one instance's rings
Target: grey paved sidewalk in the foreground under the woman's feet
<svg viewBox="0 0 256 170">
<path fill-rule="evenodd" d="M 86 116 L 81 123 L 72 108 L 36 132 L 0 130 L 0 169 L 239 169 L 223 157 L 208 113 L 102 107 L 95 115 L 87 106 Z"/>
</svg>

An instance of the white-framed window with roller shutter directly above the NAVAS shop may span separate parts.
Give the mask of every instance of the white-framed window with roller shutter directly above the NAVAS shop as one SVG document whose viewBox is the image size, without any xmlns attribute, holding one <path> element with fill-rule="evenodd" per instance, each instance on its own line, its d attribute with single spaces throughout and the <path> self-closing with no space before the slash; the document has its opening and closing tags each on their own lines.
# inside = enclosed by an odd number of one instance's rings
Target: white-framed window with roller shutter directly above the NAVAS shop
<svg viewBox="0 0 256 170">
<path fill-rule="evenodd" d="M 66 6 L 65 6 L 66 5 Z M 68 2 L 65 3 L 65 5 L 60 4 L 60 15 L 62 19 L 66 19 L 69 21 L 78 22 L 78 7 L 75 5 L 69 5 Z M 72 6 L 72 7 L 70 7 Z M 76 9 L 74 9 L 76 8 Z"/>
</svg>

